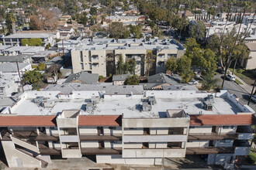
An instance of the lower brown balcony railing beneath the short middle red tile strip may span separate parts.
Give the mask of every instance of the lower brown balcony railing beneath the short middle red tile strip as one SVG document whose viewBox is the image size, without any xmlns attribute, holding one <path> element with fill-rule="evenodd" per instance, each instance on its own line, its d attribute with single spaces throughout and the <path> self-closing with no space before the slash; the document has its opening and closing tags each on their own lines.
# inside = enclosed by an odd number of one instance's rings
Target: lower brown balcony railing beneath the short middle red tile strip
<svg viewBox="0 0 256 170">
<path fill-rule="evenodd" d="M 120 155 L 122 148 L 81 148 L 82 155 Z"/>
</svg>

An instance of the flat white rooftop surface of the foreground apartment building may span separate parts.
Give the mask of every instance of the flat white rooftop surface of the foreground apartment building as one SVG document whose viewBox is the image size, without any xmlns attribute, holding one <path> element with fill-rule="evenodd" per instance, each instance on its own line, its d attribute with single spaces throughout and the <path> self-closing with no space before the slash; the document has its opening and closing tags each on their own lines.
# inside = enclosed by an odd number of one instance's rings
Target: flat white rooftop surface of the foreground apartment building
<svg viewBox="0 0 256 170">
<path fill-rule="evenodd" d="M 123 117 L 165 117 L 168 109 L 184 109 L 188 114 L 237 114 L 241 110 L 225 98 L 215 97 L 213 110 L 205 110 L 201 107 L 199 98 L 161 98 L 156 97 L 157 104 L 152 105 L 152 110 L 142 111 L 141 98 L 101 99 L 95 104 L 95 110 L 86 111 L 85 107 L 89 99 L 57 99 L 52 98 L 47 102 L 55 101 L 54 107 L 43 107 L 35 104 L 33 98 L 23 100 L 12 114 L 19 115 L 56 115 L 62 110 L 80 110 L 81 114 L 113 115 L 123 114 Z"/>
</svg>

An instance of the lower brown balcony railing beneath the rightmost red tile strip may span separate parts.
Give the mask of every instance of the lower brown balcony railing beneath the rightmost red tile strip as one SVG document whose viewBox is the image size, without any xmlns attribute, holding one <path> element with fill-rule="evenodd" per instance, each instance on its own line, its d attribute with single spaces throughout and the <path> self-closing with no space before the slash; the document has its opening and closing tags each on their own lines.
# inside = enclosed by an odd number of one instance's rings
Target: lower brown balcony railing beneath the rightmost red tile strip
<svg viewBox="0 0 256 170">
<path fill-rule="evenodd" d="M 186 155 L 204 155 L 204 154 L 234 154 L 234 147 L 192 147 L 186 148 Z"/>
</svg>

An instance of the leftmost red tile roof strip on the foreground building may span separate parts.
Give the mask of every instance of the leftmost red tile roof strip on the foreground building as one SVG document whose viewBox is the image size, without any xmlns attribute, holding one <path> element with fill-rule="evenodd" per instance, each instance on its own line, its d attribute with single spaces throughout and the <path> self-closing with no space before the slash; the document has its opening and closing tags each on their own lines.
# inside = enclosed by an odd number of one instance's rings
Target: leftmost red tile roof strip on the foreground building
<svg viewBox="0 0 256 170">
<path fill-rule="evenodd" d="M 0 127 L 53 127 L 56 116 L 0 116 Z"/>
</svg>

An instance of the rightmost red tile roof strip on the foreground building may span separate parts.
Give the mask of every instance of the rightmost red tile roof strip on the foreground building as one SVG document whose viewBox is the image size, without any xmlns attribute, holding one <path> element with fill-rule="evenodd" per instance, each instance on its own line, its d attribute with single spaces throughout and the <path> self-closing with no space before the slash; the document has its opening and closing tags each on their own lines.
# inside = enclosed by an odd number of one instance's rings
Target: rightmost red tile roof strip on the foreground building
<svg viewBox="0 0 256 170">
<path fill-rule="evenodd" d="M 253 114 L 231 114 L 231 115 L 189 115 L 190 125 L 249 125 L 255 124 L 256 119 Z"/>
</svg>

